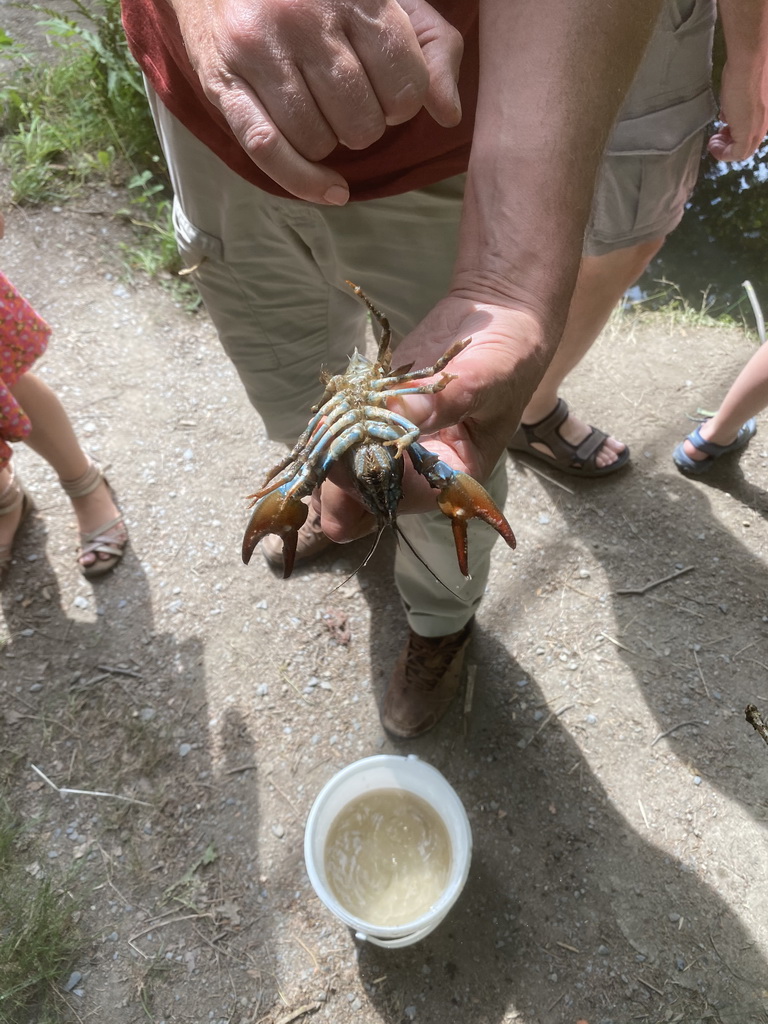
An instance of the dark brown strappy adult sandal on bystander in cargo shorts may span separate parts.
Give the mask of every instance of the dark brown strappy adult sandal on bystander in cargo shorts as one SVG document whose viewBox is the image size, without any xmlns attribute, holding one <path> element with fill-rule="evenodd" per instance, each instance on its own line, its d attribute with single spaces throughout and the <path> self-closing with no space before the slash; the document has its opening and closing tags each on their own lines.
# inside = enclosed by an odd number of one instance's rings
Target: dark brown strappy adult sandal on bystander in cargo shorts
<svg viewBox="0 0 768 1024">
<path fill-rule="evenodd" d="M 523 452 L 569 476 L 609 476 L 627 465 L 630 461 L 628 447 L 609 466 L 597 465 L 597 454 L 609 436 L 597 427 L 591 426 L 590 433 L 579 444 L 566 441 L 561 436 L 559 427 L 567 420 L 568 415 L 567 404 L 562 398 L 558 398 L 549 416 L 538 423 L 521 423 L 507 447 L 510 452 Z M 535 447 L 535 444 L 546 444 L 552 455 Z"/>
</svg>

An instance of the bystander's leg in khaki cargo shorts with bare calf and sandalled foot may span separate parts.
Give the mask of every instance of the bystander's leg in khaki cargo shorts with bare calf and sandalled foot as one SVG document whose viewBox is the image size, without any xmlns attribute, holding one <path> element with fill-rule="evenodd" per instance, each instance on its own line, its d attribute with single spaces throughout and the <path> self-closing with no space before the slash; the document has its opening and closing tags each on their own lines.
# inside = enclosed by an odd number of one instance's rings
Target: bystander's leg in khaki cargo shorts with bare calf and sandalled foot
<svg viewBox="0 0 768 1024">
<path fill-rule="evenodd" d="M 565 376 L 589 351 L 616 303 L 682 218 L 700 165 L 705 126 L 716 113 L 710 88 L 714 23 L 713 0 L 663 4 L 603 158 L 568 321 L 558 351 L 523 413 L 522 423 L 528 427 L 555 411 Z M 591 428 L 568 413 L 557 433 L 578 445 Z M 525 431 L 518 434 L 524 437 Z M 546 444 L 532 446 L 550 461 Z M 614 464 L 625 447 L 607 437 L 594 456 L 594 466 Z"/>
</svg>

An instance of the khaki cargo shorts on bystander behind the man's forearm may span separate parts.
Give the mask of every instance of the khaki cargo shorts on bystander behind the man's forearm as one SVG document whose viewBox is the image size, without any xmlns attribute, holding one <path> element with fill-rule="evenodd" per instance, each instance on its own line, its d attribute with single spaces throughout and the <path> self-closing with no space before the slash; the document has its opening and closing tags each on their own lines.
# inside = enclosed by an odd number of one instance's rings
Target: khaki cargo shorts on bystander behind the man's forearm
<svg viewBox="0 0 768 1024">
<path fill-rule="evenodd" d="M 712 94 L 714 0 L 667 0 L 608 142 L 584 253 L 664 238 L 701 163 Z"/>
</svg>

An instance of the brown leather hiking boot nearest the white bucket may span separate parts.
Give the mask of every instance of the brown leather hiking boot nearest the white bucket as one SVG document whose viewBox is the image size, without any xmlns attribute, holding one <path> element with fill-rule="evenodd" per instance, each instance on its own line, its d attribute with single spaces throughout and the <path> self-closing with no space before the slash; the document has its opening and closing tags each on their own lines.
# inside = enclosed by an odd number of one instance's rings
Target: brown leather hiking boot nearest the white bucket
<svg viewBox="0 0 768 1024">
<path fill-rule="evenodd" d="M 440 721 L 459 690 L 472 623 L 444 637 L 420 637 L 410 631 L 381 703 L 381 724 L 387 732 L 413 739 Z"/>
</svg>

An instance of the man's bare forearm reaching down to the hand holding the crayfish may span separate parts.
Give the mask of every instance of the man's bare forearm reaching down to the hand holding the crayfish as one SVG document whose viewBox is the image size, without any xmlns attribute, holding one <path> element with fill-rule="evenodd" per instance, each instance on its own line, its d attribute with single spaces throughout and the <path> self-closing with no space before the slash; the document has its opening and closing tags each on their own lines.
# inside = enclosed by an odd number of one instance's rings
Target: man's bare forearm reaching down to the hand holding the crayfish
<svg viewBox="0 0 768 1024">
<path fill-rule="evenodd" d="M 559 334 L 602 151 L 658 7 L 480 0 L 480 91 L 456 292 L 484 291 Z"/>
</svg>

